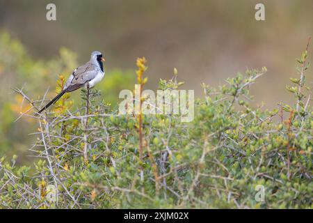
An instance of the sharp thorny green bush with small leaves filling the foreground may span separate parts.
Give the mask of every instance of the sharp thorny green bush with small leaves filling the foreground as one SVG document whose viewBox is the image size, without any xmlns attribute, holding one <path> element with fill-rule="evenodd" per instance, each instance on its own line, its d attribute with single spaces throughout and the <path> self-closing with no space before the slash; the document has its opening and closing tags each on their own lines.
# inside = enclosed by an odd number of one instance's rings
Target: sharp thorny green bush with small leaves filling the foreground
<svg viewBox="0 0 313 223">
<path fill-rule="evenodd" d="M 142 86 L 145 62 L 137 61 Z M 70 109 L 65 97 L 39 118 L 24 114 L 39 125 L 31 148 L 38 160 L 22 167 L 16 155 L 0 160 L 0 207 L 312 208 L 308 64 L 306 49 L 299 77 L 287 86 L 294 105 L 272 111 L 255 107 L 249 94 L 262 68 L 217 89 L 202 84 L 204 98 L 196 100 L 191 123 L 179 115 L 118 115 L 95 89 L 89 103 L 81 92 L 79 109 Z M 182 87 L 176 78 L 161 80 L 159 89 Z M 58 89 L 62 84 L 60 77 Z M 45 102 L 15 91 L 30 108 Z M 257 185 L 265 188 L 263 202 L 255 199 Z"/>
</svg>

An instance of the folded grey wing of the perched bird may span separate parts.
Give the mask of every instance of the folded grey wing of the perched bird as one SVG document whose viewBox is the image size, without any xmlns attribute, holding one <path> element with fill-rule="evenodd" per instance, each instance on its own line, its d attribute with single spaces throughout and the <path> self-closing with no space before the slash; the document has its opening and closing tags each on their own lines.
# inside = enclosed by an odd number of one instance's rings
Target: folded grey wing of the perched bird
<svg viewBox="0 0 313 223">
<path fill-rule="evenodd" d="M 93 63 L 86 63 L 74 70 L 72 75 L 65 83 L 64 90 L 67 92 L 75 91 L 84 86 L 87 82 L 90 82 L 90 80 L 94 79 L 96 75 L 97 66 L 95 66 Z"/>
</svg>

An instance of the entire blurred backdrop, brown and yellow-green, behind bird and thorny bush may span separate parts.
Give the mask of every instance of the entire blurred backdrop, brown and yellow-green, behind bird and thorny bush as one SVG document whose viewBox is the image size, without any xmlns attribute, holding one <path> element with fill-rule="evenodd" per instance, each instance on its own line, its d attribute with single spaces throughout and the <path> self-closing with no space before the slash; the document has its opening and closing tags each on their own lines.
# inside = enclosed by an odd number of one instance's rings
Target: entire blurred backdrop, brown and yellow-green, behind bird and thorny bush
<svg viewBox="0 0 313 223">
<path fill-rule="evenodd" d="M 48 3 L 56 4 L 56 21 L 46 20 Z M 264 3 L 266 21 L 255 20 L 256 3 Z M 50 87 L 52 98 L 58 75 L 68 77 L 93 50 L 106 58 L 97 88 L 111 103 L 121 89 L 133 88 L 138 56 L 148 61 L 150 89 L 177 68 L 183 88 L 202 97 L 202 82 L 217 86 L 266 66 L 252 88 L 255 100 L 270 109 L 291 102 L 284 88 L 313 33 L 312 8 L 311 0 L 0 0 L 0 156 L 17 153 L 27 162 L 35 137 L 29 134 L 37 128 L 27 118 L 14 122 L 28 107 L 10 88 L 24 87 L 38 99 Z M 309 82 L 312 76 L 309 70 Z M 79 92 L 72 98 L 79 107 Z"/>
</svg>

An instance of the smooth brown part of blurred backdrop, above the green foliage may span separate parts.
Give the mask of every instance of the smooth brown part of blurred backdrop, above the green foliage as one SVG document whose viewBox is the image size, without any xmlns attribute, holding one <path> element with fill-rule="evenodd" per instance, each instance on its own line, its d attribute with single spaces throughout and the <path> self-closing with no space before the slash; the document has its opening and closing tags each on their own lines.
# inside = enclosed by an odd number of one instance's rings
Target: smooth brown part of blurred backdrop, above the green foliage
<svg viewBox="0 0 313 223">
<path fill-rule="evenodd" d="M 47 21 L 47 3 L 57 20 Z M 255 4 L 266 6 L 266 21 L 255 20 Z M 22 40 L 35 58 L 51 58 L 60 47 L 79 62 L 94 49 L 106 56 L 106 70 L 134 68 L 137 56 L 149 61 L 151 86 L 172 68 L 186 88 L 223 83 L 237 71 L 266 66 L 255 86 L 257 99 L 275 106 L 290 100 L 284 92 L 294 62 L 313 33 L 313 1 L 4 1 L 0 26 Z"/>
</svg>

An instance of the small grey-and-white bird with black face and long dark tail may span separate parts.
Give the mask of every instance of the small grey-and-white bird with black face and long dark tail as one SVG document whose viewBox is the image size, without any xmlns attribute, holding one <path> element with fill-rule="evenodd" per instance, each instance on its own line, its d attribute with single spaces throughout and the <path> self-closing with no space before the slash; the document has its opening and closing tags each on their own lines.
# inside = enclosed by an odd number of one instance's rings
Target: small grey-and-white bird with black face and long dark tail
<svg viewBox="0 0 313 223">
<path fill-rule="evenodd" d="M 87 87 L 87 89 L 93 88 L 95 84 L 99 83 L 104 77 L 104 61 L 105 59 L 101 52 L 92 52 L 90 55 L 90 61 L 85 63 L 83 66 L 76 68 L 65 82 L 62 91 L 58 93 L 58 95 L 56 95 L 56 97 L 47 105 L 45 105 L 45 107 L 40 109 L 35 116 L 38 116 L 49 106 L 57 102 L 65 93 L 75 91 L 81 87 Z"/>
</svg>

